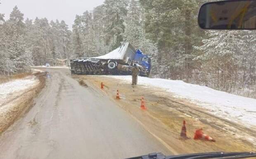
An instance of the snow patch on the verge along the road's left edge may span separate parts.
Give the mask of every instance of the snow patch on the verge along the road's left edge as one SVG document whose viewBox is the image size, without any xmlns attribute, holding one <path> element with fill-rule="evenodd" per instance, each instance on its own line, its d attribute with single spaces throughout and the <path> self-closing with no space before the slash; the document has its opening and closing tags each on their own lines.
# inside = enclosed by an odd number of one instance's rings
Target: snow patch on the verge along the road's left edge
<svg viewBox="0 0 256 159">
<path fill-rule="evenodd" d="M 13 97 L 22 94 L 22 92 L 33 85 L 36 85 L 38 82 L 39 80 L 36 76 L 28 76 L 23 79 L 0 84 L 0 106 L 8 99 L 12 99 Z"/>
</svg>

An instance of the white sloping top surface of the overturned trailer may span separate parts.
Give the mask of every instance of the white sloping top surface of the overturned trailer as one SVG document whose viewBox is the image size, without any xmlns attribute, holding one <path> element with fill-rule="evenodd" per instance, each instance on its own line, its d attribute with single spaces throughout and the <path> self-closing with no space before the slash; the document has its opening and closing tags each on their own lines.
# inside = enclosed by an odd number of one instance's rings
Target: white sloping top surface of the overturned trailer
<svg viewBox="0 0 256 159">
<path fill-rule="evenodd" d="M 126 53 L 126 50 L 129 46 L 129 43 L 123 44 L 119 48 L 116 48 L 115 50 L 111 51 L 110 53 L 107 53 L 106 55 L 94 57 L 96 59 L 123 59 L 123 56 Z"/>
</svg>

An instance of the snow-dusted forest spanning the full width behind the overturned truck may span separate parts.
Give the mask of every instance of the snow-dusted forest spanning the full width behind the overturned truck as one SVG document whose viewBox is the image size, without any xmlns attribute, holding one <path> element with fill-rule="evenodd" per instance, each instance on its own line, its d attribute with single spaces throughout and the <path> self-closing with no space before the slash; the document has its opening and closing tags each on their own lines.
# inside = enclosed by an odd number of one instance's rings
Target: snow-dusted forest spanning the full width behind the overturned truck
<svg viewBox="0 0 256 159">
<path fill-rule="evenodd" d="M 256 33 L 199 29 L 197 13 L 204 2 L 105 0 L 76 15 L 72 31 L 64 21 L 24 21 L 15 7 L 7 21 L 0 14 L 0 55 L 5 57 L 0 59 L 0 73 L 103 55 L 128 41 L 151 56 L 152 77 L 256 98 Z"/>
</svg>

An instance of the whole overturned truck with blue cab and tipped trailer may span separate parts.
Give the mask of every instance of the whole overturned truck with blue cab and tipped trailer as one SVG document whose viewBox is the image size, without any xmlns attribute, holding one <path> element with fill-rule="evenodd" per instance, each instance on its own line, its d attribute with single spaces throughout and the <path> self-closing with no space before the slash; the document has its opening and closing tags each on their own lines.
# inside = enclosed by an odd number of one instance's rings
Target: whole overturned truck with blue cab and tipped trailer
<svg viewBox="0 0 256 159">
<path fill-rule="evenodd" d="M 71 59 L 70 70 L 71 74 L 129 75 L 134 63 L 140 68 L 140 76 L 149 76 L 150 58 L 126 43 L 106 55 Z"/>
</svg>

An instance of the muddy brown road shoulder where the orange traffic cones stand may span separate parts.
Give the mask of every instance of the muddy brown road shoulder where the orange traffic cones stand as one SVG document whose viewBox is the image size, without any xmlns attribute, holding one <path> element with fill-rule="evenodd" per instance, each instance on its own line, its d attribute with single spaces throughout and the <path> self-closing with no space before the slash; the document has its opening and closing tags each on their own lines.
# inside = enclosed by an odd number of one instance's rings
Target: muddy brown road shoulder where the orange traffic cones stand
<svg viewBox="0 0 256 159">
<path fill-rule="evenodd" d="M 142 127 L 166 145 L 174 154 L 210 152 L 210 151 L 256 151 L 254 130 L 228 122 L 207 113 L 206 110 L 184 99 L 174 98 L 170 93 L 156 88 L 135 88 L 121 80 L 107 76 L 77 76 L 87 85 L 100 89 L 119 106 L 132 115 Z M 119 90 L 121 100 L 116 100 Z M 140 110 L 140 98 L 145 97 L 147 111 Z M 195 129 L 203 128 L 206 134 L 216 139 L 216 143 L 207 141 L 182 140 L 179 138 L 182 121 L 187 121 L 187 135 L 193 138 Z"/>
</svg>

